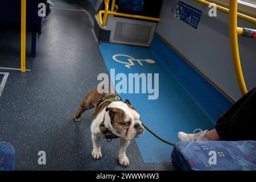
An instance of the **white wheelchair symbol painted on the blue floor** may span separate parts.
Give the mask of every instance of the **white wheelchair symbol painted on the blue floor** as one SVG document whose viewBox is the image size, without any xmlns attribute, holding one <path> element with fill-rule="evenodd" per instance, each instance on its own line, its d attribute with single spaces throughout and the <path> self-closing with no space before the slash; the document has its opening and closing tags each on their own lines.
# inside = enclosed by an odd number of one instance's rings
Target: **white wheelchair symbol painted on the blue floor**
<svg viewBox="0 0 256 182">
<path fill-rule="evenodd" d="M 134 66 L 136 62 L 141 66 L 143 66 L 143 62 L 150 64 L 155 63 L 155 61 L 151 59 L 135 59 L 134 57 L 128 55 L 114 55 L 112 58 L 118 63 L 125 64 L 126 68 L 131 68 L 131 66 Z"/>
</svg>

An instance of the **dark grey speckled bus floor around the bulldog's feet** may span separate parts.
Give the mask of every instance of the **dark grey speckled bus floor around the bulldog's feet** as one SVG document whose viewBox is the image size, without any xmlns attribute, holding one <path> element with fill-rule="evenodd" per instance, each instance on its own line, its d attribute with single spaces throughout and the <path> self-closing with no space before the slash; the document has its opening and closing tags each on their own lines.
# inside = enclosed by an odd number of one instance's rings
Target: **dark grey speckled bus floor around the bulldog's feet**
<svg viewBox="0 0 256 182">
<path fill-rule="evenodd" d="M 103 158 L 92 159 L 92 110 L 80 123 L 72 120 L 85 93 L 96 88 L 97 75 L 107 72 L 91 26 L 84 12 L 52 9 L 35 58 L 29 57 L 28 33 L 27 68 L 32 71 L 11 71 L 0 98 L 0 140 L 15 147 L 16 169 L 171 170 L 168 163 L 144 164 L 134 141 L 127 149 L 129 168 L 118 165 L 118 140 L 102 140 Z M 0 35 L 0 67 L 19 67 L 19 31 L 1 30 Z M 38 165 L 41 150 L 46 166 Z"/>
</svg>

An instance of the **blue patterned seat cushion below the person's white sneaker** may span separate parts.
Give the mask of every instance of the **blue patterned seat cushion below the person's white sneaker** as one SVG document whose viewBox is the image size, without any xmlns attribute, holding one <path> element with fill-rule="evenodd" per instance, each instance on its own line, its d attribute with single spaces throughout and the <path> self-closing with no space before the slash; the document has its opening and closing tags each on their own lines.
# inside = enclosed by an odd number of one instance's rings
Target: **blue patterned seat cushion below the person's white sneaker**
<svg viewBox="0 0 256 182">
<path fill-rule="evenodd" d="M 209 164 L 215 151 L 217 164 Z M 176 170 L 255 171 L 256 141 L 179 142 L 172 151 Z"/>
</svg>

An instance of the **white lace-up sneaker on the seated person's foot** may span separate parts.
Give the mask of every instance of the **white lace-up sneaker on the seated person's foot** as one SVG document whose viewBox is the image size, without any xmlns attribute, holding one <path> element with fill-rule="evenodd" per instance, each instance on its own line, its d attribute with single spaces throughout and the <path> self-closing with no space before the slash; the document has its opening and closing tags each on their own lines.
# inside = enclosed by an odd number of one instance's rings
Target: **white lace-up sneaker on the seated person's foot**
<svg viewBox="0 0 256 182">
<path fill-rule="evenodd" d="M 195 133 L 197 130 L 199 130 L 199 133 Z M 201 130 L 201 129 L 196 129 L 193 131 L 193 134 L 187 134 L 184 132 L 179 132 L 177 135 L 180 139 L 180 141 L 208 141 L 206 138 L 208 130 Z"/>
</svg>

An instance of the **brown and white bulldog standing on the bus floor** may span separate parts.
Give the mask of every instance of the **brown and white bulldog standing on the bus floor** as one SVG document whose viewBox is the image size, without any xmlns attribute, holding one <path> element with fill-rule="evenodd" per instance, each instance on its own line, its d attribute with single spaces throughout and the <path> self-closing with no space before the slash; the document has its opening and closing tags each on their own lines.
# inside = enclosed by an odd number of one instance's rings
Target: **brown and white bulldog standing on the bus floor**
<svg viewBox="0 0 256 182">
<path fill-rule="evenodd" d="M 93 158 L 102 158 L 100 138 L 103 137 L 107 140 L 120 138 L 119 164 L 128 167 L 130 162 L 126 156 L 126 148 L 132 139 L 141 137 L 144 133 L 139 113 L 130 104 L 129 100 L 122 102 L 121 97 L 117 94 L 99 93 L 96 89 L 90 91 L 81 101 L 74 120 L 79 122 L 82 113 L 94 107 L 96 109 L 90 126 Z"/>
</svg>

